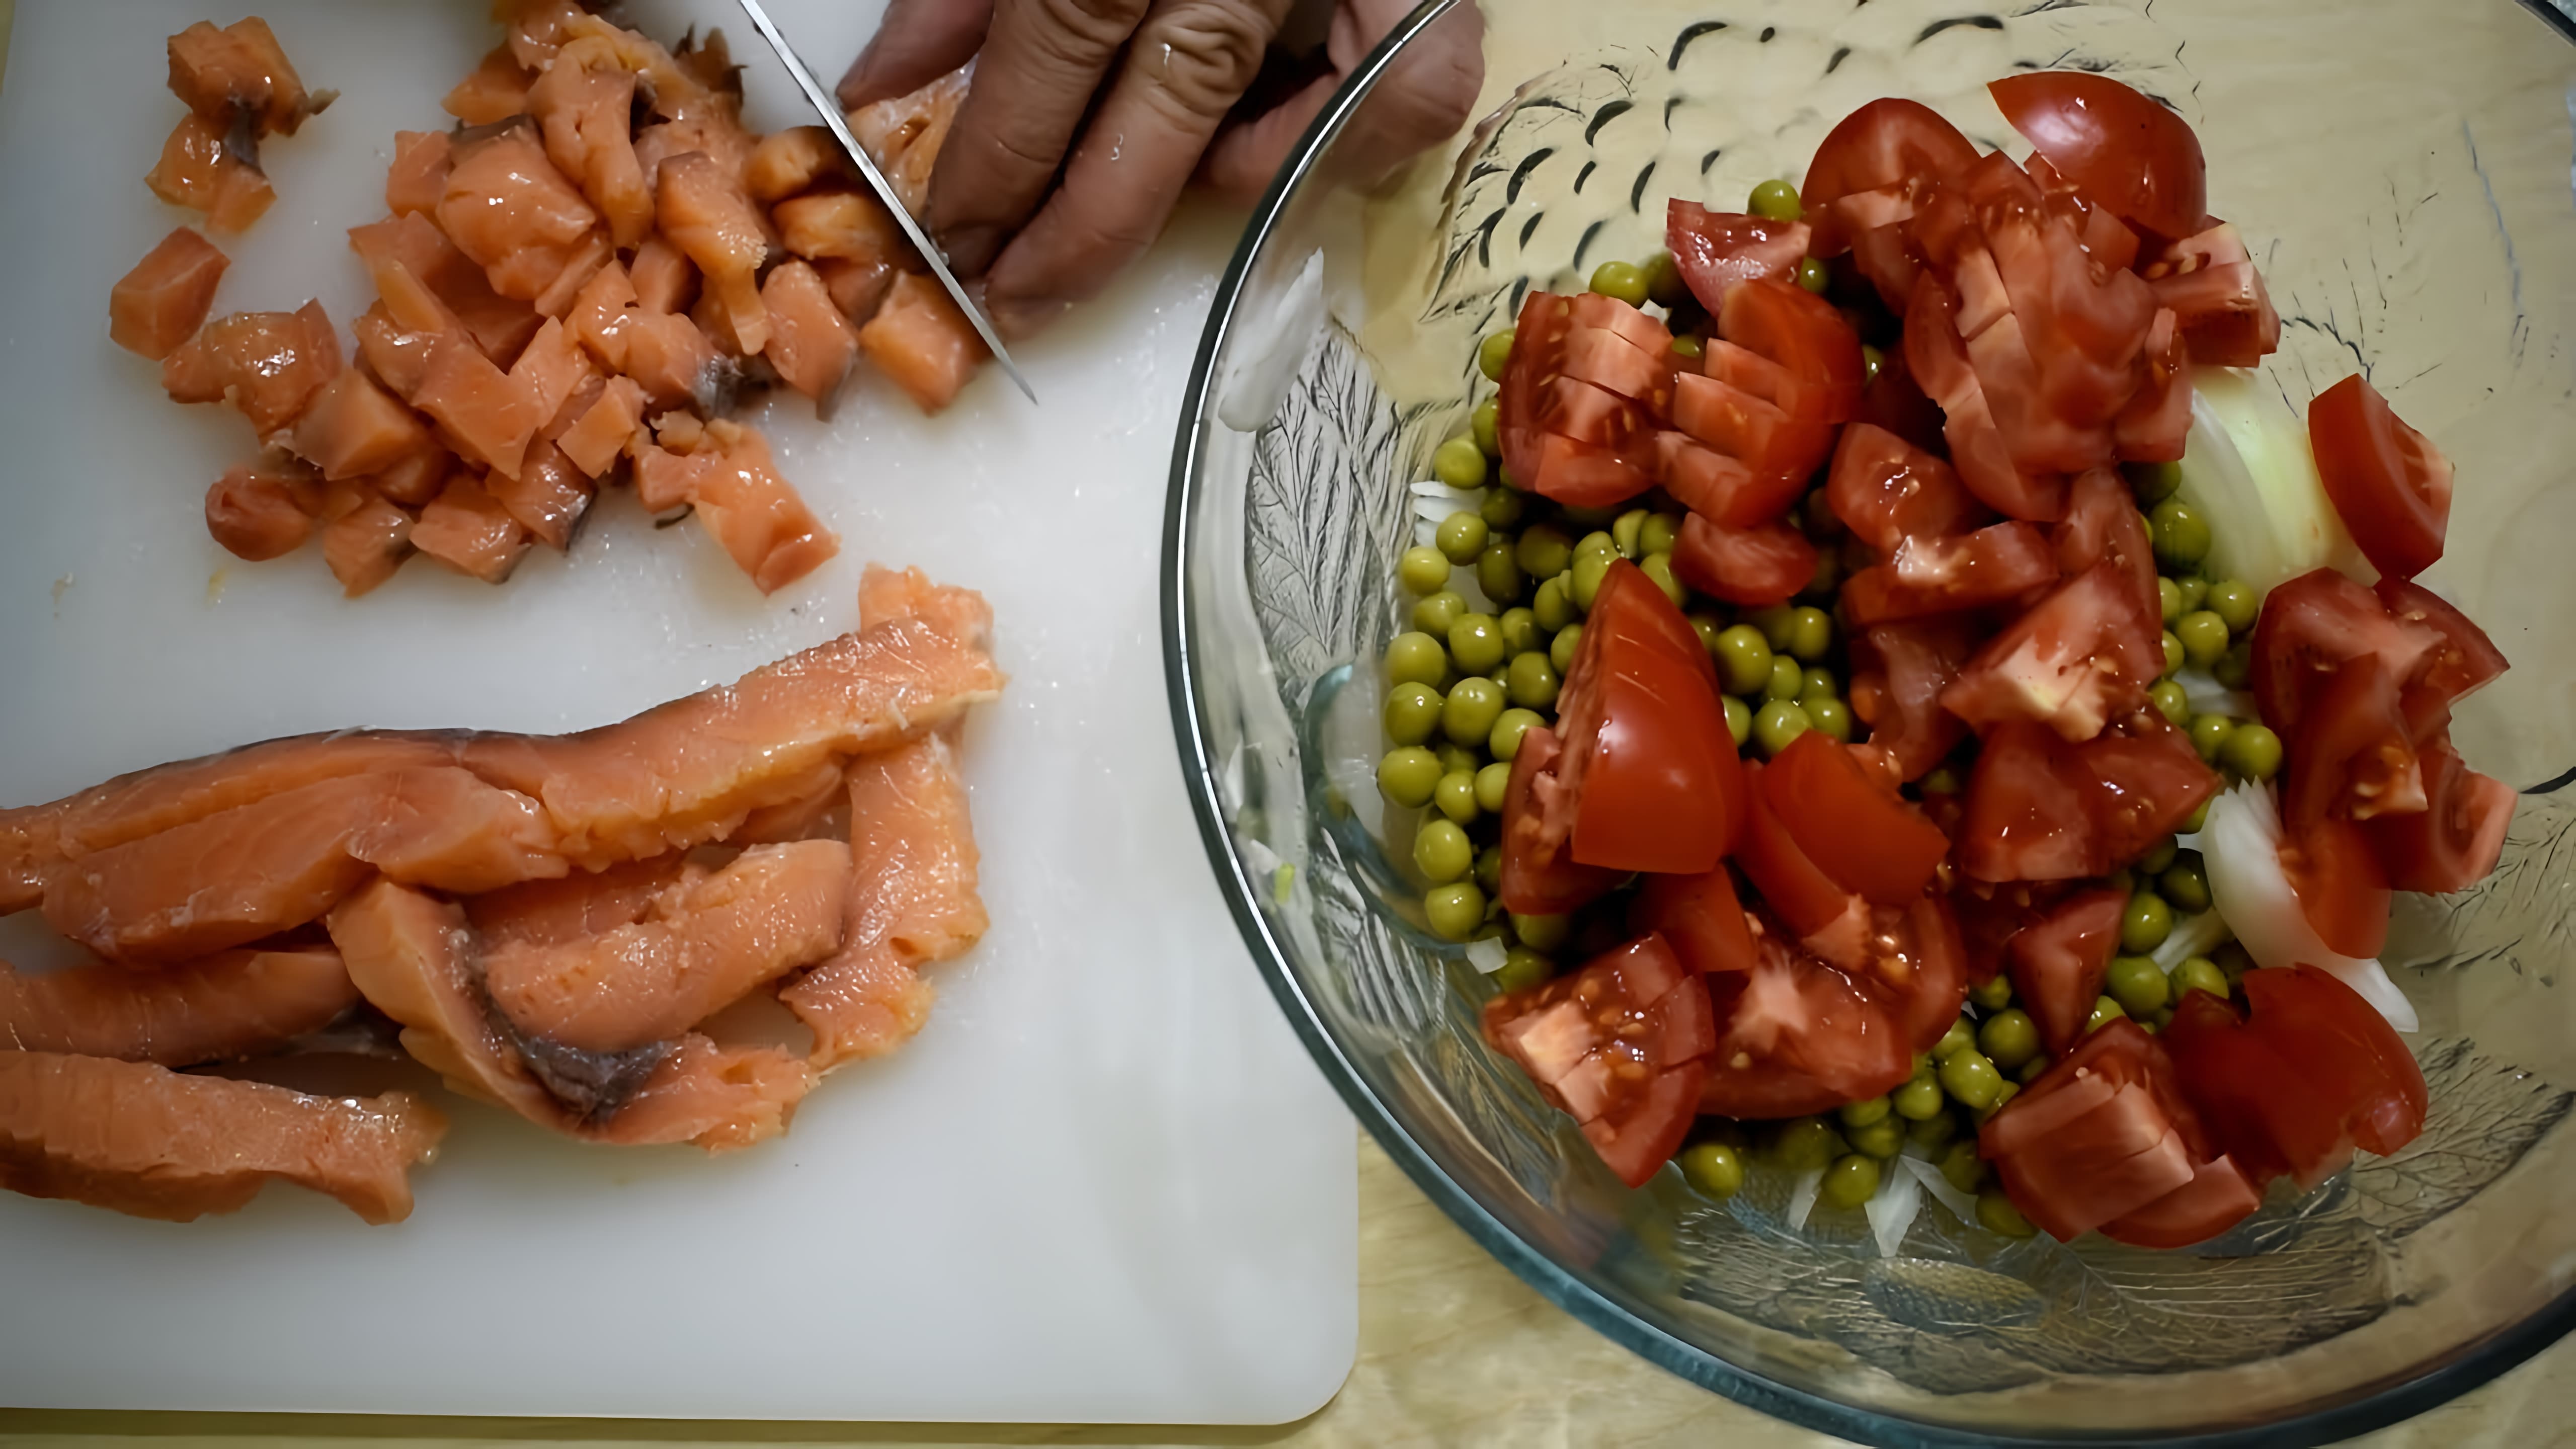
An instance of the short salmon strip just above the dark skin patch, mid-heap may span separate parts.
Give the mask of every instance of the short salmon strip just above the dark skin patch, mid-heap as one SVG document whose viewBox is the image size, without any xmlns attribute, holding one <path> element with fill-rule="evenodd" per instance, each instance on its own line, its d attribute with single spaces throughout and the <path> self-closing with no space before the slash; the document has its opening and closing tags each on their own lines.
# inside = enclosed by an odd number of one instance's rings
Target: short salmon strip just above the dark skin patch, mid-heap
<svg viewBox="0 0 2576 1449">
<path fill-rule="evenodd" d="M 487 944 L 484 990 L 528 1036 L 582 1052 L 647 1047 L 829 957 L 848 895 L 850 846 L 755 846 L 675 884 L 631 926 Z"/>
</svg>

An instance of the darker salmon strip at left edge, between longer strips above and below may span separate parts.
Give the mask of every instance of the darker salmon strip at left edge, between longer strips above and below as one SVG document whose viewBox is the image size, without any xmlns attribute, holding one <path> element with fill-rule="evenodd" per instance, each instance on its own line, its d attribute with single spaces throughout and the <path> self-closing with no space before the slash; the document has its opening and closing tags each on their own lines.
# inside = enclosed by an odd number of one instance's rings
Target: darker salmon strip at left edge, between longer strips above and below
<svg viewBox="0 0 2576 1449">
<path fill-rule="evenodd" d="M 222 951 L 157 972 L 90 962 L 23 977 L 0 964 L 0 1042 L 191 1067 L 276 1052 L 358 1006 L 337 951 Z"/>
</svg>

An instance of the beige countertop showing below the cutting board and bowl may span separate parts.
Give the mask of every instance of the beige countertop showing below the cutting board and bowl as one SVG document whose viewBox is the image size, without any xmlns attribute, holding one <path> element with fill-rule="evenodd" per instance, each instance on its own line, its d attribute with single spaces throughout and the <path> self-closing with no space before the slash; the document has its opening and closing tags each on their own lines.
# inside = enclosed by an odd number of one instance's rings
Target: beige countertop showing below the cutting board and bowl
<svg viewBox="0 0 2576 1449">
<path fill-rule="evenodd" d="M 1360 1140 L 1360 1359 L 1319 1413 L 1278 1428 L 976 1423 L 600 1423 L 564 1418 L 296 1418 L 185 1413 L 10 1413 L 0 1446 L 247 1449 L 294 1439 L 469 1449 L 505 1441 L 647 1444 L 1278 1444 L 1515 1446 L 1842 1444 L 1703 1392 L 1574 1323 L 1484 1256 L 1414 1183 Z M 2370 1449 L 2576 1446 L 2576 1341 L 2411 1423 Z"/>
</svg>

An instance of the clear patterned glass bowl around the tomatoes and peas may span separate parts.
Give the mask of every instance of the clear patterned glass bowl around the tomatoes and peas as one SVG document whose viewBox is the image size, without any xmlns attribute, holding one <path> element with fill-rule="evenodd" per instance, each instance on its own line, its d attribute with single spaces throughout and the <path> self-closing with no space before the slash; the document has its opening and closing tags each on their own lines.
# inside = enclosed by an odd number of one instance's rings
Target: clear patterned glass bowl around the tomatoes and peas
<svg viewBox="0 0 2576 1449">
<path fill-rule="evenodd" d="M 1646 1359 L 1878 1444 L 2313 1444 L 2478 1385 L 2576 1318 L 2576 284 L 2571 54 L 2512 0 L 1489 0 L 1481 121 L 1386 178 L 1401 64 L 1479 44 L 1417 10 L 1319 119 L 1216 297 L 1164 523 L 1172 722 L 1216 877 L 1324 1073 L 1502 1263 Z M 1419 49 L 1417 49 L 1419 46 Z M 1492 985 L 1419 928 L 1373 784 L 1394 559 L 1432 449 L 1489 394 L 1530 286 L 1739 209 L 1875 95 L 2025 155 L 1984 83 L 2110 72 L 2200 129 L 2210 209 L 2285 320 L 2285 407 L 2354 366 L 2458 464 L 2429 583 L 2514 660 L 2458 743 L 2527 786 L 2496 874 L 2401 897 L 2424 1134 L 2218 1243 L 2004 1240 L 1927 1204 L 1785 1227 L 1674 1171 L 1623 1189 L 1476 1034 Z M 1383 85 L 1381 85 L 1383 80 Z"/>
</svg>

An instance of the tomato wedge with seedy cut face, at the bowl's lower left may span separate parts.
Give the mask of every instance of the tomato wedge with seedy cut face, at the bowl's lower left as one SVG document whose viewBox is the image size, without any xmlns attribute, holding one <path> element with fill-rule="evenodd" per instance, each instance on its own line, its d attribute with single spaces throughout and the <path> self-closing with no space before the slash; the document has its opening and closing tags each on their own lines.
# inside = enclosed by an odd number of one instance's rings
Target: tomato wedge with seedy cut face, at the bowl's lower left
<svg viewBox="0 0 2576 1449">
<path fill-rule="evenodd" d="M 1643 1186 L 1690 1132 L 1716 1018 L 1700 980 L 1643 936 L 1540 987 L 1494 998 L 1484 1034 Z"/>
</svg>

